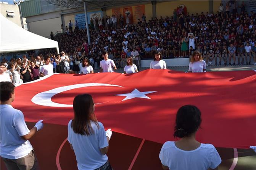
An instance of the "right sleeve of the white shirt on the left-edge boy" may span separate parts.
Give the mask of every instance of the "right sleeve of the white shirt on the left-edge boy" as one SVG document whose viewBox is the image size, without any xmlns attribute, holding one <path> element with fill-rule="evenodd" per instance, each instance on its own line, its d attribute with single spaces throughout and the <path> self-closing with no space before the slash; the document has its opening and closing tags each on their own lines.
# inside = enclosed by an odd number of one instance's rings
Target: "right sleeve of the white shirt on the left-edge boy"
<svg viewBox="0 0 256 170">
<path fill-rule="evenodd" d="M 24 136 L 29 134 L 29 129 L 27 128 L 27 124 L 24 120 L 24 115 L 21 111 L 19 111 L 18 114 L 15 115 L 13 120 L 13 127 L 18 132 L 19 136 Z"/>
</svg>

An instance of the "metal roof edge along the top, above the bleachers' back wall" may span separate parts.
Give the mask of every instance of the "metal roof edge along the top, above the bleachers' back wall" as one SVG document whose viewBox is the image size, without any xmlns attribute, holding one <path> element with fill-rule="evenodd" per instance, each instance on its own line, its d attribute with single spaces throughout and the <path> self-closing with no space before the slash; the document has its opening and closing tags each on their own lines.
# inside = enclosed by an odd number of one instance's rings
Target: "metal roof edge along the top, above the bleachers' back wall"
<svg viewBox="0 0 256 170">
<path fill-rule="evenodd" d="M 47 0 L 48 3 L 58 6 L 63 6 L 66 8 L 77 9 L 84 7 L 84 2 L 86 3 L 87 10 L 97 9 L 97 8 L 109 8 L 114 6 L 126 6 L 134 3 L 147 3 L 150 1 L 145 0 Z"/>
</svg>

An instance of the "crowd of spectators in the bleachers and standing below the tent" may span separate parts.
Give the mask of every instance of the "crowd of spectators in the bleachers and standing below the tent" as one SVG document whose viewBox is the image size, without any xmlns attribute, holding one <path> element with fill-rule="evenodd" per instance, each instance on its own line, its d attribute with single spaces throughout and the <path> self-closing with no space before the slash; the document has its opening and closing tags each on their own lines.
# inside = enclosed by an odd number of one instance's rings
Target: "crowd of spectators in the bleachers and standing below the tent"
<svg viewBox="0 0 256 170">
<path fill-rule="evenodd" d="M 75 27 L 72 27 L 70 21 L 65 30 L 61 25 L 61 35 L 53 37 L 51 33 L 51 38 L 58 41 L 60 51 L 65 53 L 64 56 L 67 56 L 68 60 L 64 61 L 62 58 L 58 61 L 56 51 L 42 50 L 39 56 L 32 52 L 23 59 L 3 60 L 2 63 L 7 70 L 10 69 L 11 76 L 14 77 L 17 72 L 21 74 L 23 62 L 31 67 L 31 61 L 34 61 L 35 66 L 41 69 L 45 64 L 43 56 L 49 55 L 54 72 L 81 73 L 82 61 L 85 58 L 93 69 L 99 69 L 104 51 L 108 51 L 108 58 L 114 61 L 117 68 L 124 68 L 127 58 L 135 49 L 139 54 L 137 60 L 134 60 L 138 70 L 140 60 L 153 59 L 157 51 L 161 52 L 163 58 L 183 58 L 192 57 L 193 52 L 198 50 L 203 55 L 206 66 L 213 63 L 256 65 L 255 19 L 256 14 L 252 11 L 248 13 L 243 8 L 240 13 L 237 9 L 225 11 L 222 5 L 217 13 L 210 14 L 185 14 L 176 9 L 172 16 L 160 18 L 148 19 L 143 14 L 137 24 L 130 24 L 129 19 L 124 19 L 121 15 L 112 15 L 90 20 L 90 44 L 87 31 L 79 29 L 77 21 Z M 61 65 L 61 69 L 56 71 L 56 67 L 60 68 L 58 65 Z M 27 71 L 25 77 L 29 80 L 25 81 L 30 81 L 32 79 Z M 21 78 L 24 81 L 23 74 Z"/>
</svg>

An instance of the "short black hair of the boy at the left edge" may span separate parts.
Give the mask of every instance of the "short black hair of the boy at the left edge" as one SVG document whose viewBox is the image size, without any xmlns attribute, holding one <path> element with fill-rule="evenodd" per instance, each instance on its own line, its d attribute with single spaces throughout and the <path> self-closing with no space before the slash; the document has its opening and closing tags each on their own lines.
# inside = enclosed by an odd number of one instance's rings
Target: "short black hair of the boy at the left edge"
<svg viewBox="0 0 256 170">
<path fill-rule="evenodd" d="M 0 101 L 8 101 L 11 97 L 11 93 L 14 93 L 15 86 L 11 82 L 0 83 Z"/>
</svg>

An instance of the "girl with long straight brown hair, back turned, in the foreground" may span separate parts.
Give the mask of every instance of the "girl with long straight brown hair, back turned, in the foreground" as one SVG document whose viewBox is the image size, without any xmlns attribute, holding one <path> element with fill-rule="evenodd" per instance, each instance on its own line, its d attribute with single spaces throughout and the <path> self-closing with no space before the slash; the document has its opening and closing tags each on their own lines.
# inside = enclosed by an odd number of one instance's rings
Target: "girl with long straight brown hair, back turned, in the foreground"
<svg viewBox="0 0 256 170">
<path fill-rule="evenodd" d="M 79 94 L 73 101 L 74 119 L 68 123 L 68 142 L 76 155 L 79 170 L 112 170 L 108 162 L 111 129 L 105 131 L 94 114 L 90 94 Z"/>
</svg>

